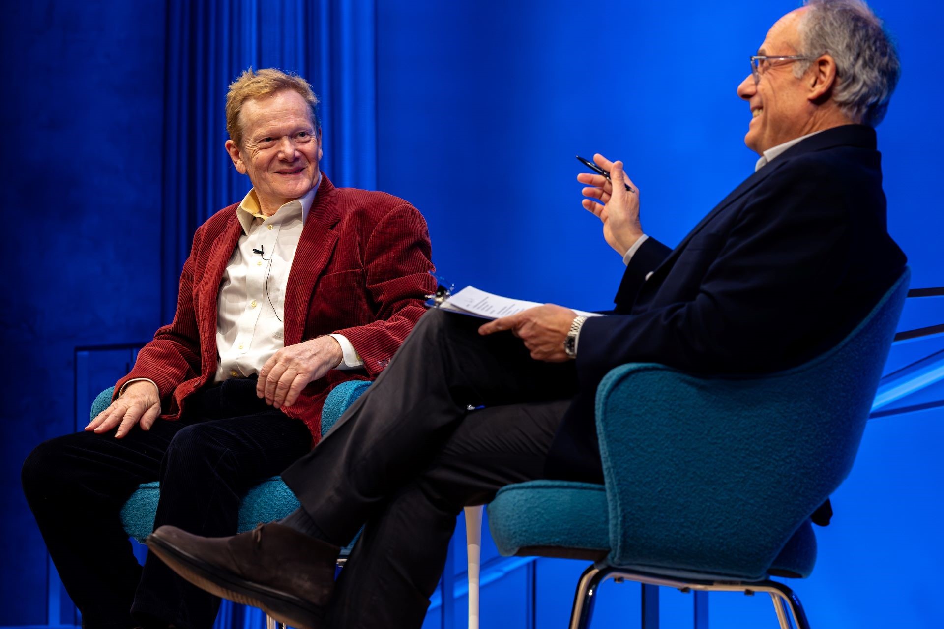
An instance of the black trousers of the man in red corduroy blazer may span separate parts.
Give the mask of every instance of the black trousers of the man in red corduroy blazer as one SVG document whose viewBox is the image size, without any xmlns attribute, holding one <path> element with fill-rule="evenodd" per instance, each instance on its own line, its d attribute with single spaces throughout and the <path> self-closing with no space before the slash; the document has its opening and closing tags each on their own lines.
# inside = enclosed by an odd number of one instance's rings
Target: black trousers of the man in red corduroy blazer
<svg viewBox="0 0 944 629">
<path fill-rule="evenodd" d="M 255 380 L 227 380 L 197 393 L 177 422 L 136 427 L 124 439 L 65 435 L 26 458 L 26 500 L 85 627 L 212 626 L 219 599 L 156 557 L 138 565 L 119 512 L 138 485 L 160 480 L 155 527 L 236 533 L 244 490 L 311 448 L 305 424 L 266 406 L 255 388 Z"/>
</svg>

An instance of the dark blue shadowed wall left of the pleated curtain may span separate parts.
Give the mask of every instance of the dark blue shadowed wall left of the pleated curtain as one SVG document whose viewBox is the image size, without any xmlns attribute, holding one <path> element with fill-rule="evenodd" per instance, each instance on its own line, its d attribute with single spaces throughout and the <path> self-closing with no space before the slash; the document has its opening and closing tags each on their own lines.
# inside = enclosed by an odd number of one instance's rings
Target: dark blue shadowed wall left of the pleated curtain
<svg viewBox="0 0 944 629">
<path fill-rule="evenodd" d="M 11 393 L 0 410 L 0 624 L 40 624 L 46 552 L 20 467 L 42 439 L 76 429 L 76 346 L 148 339 L 160 323 L 164 5 L 3 13 L 0 173 L 13 229 L 0 315 Z"/>
</svg>

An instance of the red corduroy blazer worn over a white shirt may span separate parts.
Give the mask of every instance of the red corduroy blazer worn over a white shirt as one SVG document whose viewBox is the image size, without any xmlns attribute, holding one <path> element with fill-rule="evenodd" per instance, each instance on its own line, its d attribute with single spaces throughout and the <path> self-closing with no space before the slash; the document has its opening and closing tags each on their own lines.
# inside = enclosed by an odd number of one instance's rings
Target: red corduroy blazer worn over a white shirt
<svg viewBox="0 0 944 629">
<path fill-rule="evenodd" d="M 239 204 L 200 225 L 180 275 L 174 322 L 154 340 L 115 391 L 132 378 L 160 389 L 161 419 L 176 420 L 187 398 L 216 372 L 216 298 L 229 258 L 243 233 Z M 321 408 L 330 389 L 346 380 L 377 377 L 423 314 L 436 290 L 430 235 L 419 211 L 384 192 L 335 188 L 322 173 L 298 240 L 285 290 L 285 345 L 326 334 L 344 335 L 361 355 L 367 375 L 329 371 L 306 387 L 289 417 L 305 422 L 312 443 L 321 438 Z"/>
</svg>

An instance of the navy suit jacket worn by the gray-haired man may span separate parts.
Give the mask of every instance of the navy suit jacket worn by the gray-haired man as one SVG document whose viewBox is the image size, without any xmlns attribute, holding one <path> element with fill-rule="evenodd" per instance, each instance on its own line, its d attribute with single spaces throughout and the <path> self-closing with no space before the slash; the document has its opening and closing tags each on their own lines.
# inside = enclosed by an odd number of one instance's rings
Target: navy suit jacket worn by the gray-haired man
<svg viewBox="0 0 944 629">
<path fill-rule="evenodd" d="M 583 324 L 581 389 L 551 445 L 548 476 L 602 482 L 594 400 L 614 367 L 656 362 L 701 374 L 794 367 L 851 332 L 904 263 L 886 229 L 874 129 L 850 124 L 798 142 L 674 250 L 650 238 L 636 251 L 616 314 Z"/>
</svg>

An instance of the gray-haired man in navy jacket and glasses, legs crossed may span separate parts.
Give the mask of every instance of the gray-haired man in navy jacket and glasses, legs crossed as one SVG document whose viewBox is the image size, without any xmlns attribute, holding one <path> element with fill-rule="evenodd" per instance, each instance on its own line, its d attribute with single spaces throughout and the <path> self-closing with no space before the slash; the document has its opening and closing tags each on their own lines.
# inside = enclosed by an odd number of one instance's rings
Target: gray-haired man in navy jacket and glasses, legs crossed
<svg viewBox="0 0 944 629">
<path fill-rule="evenodd" d="M 420 626 L 464 505 L 545 475 L 600 480 L 593 400 L 610 369 L 774 372 L 868 313 L 905 261 L 885 228 L 872 128 L 898 74 L 858 0 L 787 14 L 737 90 L 757 170 L 674 250 L 644 235 L 621 162 L 595 156 L 612 185 L 578 177 L 584 207 L 627 263 L 615 314 L 584 320 L 546 305 L 479 326 L 428 312 L 371 389 L 283 472 L 301 509 L 234 538 L 161 527 L 152 550 L 201 587 L 294 626 Z M 335 588 L 338 547 L 362 525 Z"/>
</svg>

